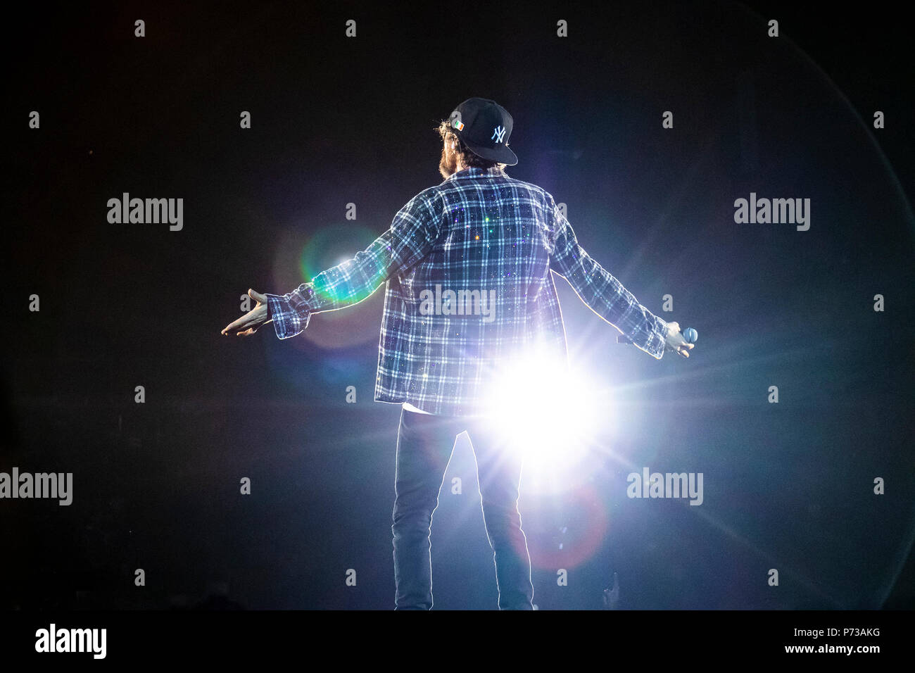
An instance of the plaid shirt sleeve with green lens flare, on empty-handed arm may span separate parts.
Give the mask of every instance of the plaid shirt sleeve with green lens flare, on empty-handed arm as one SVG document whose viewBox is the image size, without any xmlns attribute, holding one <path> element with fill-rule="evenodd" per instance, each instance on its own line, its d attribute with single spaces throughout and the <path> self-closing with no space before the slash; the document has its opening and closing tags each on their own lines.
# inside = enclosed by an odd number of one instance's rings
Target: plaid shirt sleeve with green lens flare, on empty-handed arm
<svg viewBox="0 0 915 673">
<path fill-rule="evenodd" d="M 352 259 L 322 271 L 285 295 L 266 295 L 277 338 L 289 339 L 304 331 L 312 313 L 367 299 L 389 277 L 428 255 L 442 220 L 441 197 L 434 188 L 423 190 L 394 215 L 386 232 Z"/>
</svg>

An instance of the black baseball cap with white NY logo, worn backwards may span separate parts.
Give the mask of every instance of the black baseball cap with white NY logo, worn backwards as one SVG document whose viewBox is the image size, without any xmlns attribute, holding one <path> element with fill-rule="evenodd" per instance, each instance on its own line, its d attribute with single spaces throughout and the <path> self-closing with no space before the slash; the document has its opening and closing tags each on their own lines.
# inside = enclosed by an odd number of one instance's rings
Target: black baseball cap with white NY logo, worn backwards
<svg viewBox="0 0 915 673">
<path fill-rule="evenodd" d="M 506 166 L 518 163 L 509 149 L 513 124 L 508 110 L 488 98 L 468 98 L 448 117 L 451 130 L 471 152 Z"/>
</svg>

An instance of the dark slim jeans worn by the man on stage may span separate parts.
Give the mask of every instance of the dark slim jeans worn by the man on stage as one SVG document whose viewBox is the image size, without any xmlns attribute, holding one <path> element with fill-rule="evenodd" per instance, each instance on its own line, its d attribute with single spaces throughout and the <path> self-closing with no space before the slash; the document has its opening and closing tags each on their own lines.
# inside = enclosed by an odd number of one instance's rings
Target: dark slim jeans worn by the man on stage
<svg viewBox="0 0 915 673">
<path fill-rule="evenodd" d="M 492 421 L 401 411 L 394 478 L 395 610 L 432 609 L 429 533 L 455 438 L 468 431 L 477 458 L 486 534 L 501 610 L 533 610 L 531 558 L 518 512 L 522 459 L 501 445 Z"/>
</svg>

